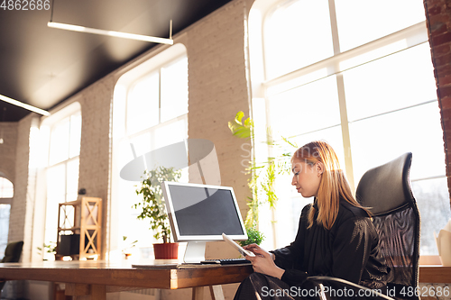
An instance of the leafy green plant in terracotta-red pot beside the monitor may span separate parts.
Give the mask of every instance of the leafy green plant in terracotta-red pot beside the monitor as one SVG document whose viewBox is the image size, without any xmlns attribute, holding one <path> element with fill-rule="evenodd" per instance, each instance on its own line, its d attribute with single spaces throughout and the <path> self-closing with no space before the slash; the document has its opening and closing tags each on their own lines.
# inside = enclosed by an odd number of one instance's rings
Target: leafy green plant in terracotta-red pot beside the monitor
<svg viewBox="0 0 451 300">
<path fill-rule="evenodd" d="M 141 209 L 141 214 L 137 218 L 149 219 L 151 229 L 155 232 L 153 237 L 162 240 L 162 243 L 153 244 L 155 259 L 178 258 L 179 243 L 170 242 L 170 223 L 164 205 L 161 182 L 178 181 L 180 177 L 180 170 L 159 167 L 145 171 L 141 185 L 136 189 L 136 194 L 143 196 L 143 201 L 133 205 L 134 208 Z"/>
</svg>

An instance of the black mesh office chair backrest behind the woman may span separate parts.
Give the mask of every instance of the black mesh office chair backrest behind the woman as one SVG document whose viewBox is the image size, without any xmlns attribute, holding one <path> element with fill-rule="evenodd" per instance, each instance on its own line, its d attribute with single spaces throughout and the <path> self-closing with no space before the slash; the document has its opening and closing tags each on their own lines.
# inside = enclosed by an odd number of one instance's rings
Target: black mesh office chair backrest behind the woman
<svg viewBox="0 0 451 300">
<path fill-rule="evenodd" d="M 419 285 L 420 217 L 410 189 L 411 161 L 409 152 L 368 170 L 356 191 L 357 201 L 373 214 L 379 250 L 391 267 L 388 282 L 398 288 Z"/>
</svg>

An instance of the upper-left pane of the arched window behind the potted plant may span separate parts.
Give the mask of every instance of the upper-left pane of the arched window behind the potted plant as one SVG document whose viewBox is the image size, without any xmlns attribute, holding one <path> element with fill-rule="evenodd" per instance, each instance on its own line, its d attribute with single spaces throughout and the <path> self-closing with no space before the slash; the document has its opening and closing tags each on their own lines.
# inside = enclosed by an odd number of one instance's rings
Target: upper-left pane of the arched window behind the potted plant
<svg viewBox="0 0 451 300">
<path fill-rule="evenodd" d="M 143 77 L 127 99 L 127 132 L 133 134 L 159 123 L 159 73 Z"/>
</svg>

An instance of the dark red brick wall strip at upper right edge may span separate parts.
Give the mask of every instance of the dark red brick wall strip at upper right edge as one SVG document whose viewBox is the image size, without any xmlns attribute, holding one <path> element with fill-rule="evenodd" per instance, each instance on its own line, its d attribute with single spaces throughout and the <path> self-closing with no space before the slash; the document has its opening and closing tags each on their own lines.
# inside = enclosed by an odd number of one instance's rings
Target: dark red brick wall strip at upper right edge
<svg viewBox="0 0 451 300">
<path fill-rule="evenodd" d="M 443 139 L 446 152 L 446 176 L 451 187 L 451 1 L 424 0 L 428 23 L 437 98 L 440 106 Z"/>
</svg>

